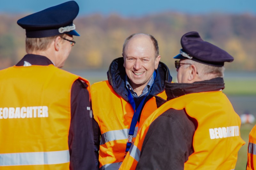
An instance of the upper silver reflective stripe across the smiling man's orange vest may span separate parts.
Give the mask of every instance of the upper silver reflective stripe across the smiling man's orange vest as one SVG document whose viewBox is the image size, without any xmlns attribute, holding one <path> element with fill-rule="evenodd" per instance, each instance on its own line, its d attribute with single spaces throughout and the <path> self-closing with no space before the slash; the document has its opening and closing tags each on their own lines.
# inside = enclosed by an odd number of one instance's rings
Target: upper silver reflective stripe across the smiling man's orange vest
<svg viewBox="0 0 256 170">
<path fill-rule="evenodd" d="M 136 137 L 138 127 L 135 127 L 134 136 Z M 128 138 L 129 129 L 111 130 L 101 135 L 100 144 L 105 144 L 109 141 L 121 140 Z"/>
</svg>

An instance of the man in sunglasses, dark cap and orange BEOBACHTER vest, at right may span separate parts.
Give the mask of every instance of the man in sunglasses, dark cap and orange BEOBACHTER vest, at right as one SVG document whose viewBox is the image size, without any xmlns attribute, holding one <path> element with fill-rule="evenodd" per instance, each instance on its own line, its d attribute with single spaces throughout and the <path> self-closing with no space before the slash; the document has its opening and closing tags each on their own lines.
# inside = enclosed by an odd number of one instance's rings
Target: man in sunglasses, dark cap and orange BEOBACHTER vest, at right
<svg viewBox="0 0 256 170">
<path fill-rule="evenodd" d="M 245 142 L 241 121 L 224 89 L 224 62 L 234 58 L 197 32 L 181 38 L 174 58 L 178 83 L 143 124 L 120 169 L 235 169 Z M 162 105 L 162 106 L 161 106 Z"/>
</svg>

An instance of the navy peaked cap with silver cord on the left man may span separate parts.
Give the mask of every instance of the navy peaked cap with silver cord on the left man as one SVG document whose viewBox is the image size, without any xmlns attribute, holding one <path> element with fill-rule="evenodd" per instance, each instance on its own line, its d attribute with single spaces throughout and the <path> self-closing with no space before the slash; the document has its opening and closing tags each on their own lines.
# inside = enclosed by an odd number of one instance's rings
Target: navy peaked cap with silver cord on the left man
<svg viewBox="0 0 256 170">
<path fill-rule="evenodd" d="M 28 38 L 50 37 L 64 33 L 80 36 L 73 24 L 78 11 L 78 4 L 75 1 L 68 1 L 21 18 L 17 24 L 26 29 Z"/>
</svg>

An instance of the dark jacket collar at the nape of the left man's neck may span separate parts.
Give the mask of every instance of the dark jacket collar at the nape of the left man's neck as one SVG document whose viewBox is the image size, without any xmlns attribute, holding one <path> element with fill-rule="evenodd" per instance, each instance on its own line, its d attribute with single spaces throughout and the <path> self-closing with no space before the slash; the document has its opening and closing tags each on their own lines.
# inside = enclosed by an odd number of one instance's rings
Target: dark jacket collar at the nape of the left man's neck
<svg viewBox="0 0 256 170">
<path fill-rule="evenodd" d="M 53 64 L 52 61 L 42 55 L 35 55 L 35 54 L 27 54 L 25 55 L 16 66 L 23 66 L 24 61 L 32 64 L 32 65 L 50 65 Z"/>
</svg>

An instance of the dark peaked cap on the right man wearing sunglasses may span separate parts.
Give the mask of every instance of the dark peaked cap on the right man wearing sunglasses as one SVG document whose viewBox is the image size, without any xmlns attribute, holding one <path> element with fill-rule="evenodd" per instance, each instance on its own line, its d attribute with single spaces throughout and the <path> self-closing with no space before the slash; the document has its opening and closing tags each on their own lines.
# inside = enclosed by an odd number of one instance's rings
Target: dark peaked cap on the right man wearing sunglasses
<svg viewBox="0 0 256 170">
<path fill-rule="evenodd" d="M 197 32 L 184 34 L 180 40 L 182 49 L 173 58 L 191 59 L 198 63 L 222 67 L 224 62 L 232 62 L 234 58 L 223 49 L 203 41 Z"/>
</svg>

